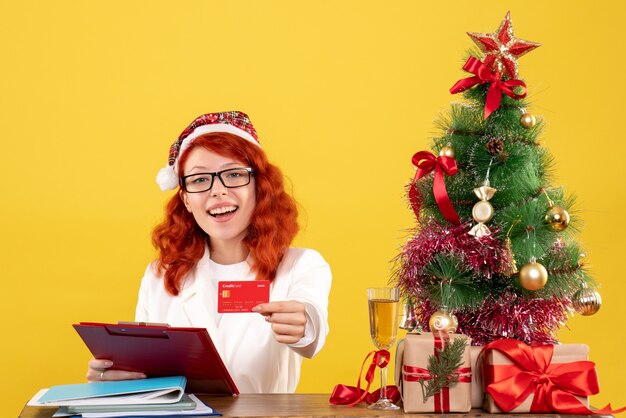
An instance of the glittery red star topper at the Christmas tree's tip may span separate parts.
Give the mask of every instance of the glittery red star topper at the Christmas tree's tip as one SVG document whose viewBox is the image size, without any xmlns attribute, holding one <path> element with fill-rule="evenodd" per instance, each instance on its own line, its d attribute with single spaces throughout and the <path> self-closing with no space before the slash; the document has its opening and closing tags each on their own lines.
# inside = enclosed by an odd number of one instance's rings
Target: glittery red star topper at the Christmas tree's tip
<svg viewBox="0 0 626 418">
<path fill-rule="evenodd" d="M 483 63 L 509 78 L 517 78 L 517 58 L 541 46 L 536 42 L 515 37 L 511 12 L 507 12 L 500 27 L 494 33 L 467 32 L 470 38 L 486 54 Z"/>
</svg>

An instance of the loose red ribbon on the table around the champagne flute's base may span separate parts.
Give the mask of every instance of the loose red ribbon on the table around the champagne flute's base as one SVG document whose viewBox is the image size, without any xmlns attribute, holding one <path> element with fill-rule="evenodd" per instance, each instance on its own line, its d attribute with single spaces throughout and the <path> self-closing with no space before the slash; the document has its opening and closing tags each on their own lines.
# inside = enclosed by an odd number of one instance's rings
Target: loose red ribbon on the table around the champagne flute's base
<svg viewBox="0 0 626 418">
<path fill-rule="evenodd" d="M 367 359 L 374 355 L 372 358 L 372 362 L 370 363 L 367 373 L 365 373 L 365 380 L 367 381 L 367 387 L 365 389 L 361 389 L 361 376 L 363 375 L 363 367 L 365 367 L 365 363 L 367 363 Z M 339 384 L 335 386 L 333 389 L 333 393 L 330 395 L 330 403 L 333 405 L 348 405 L 354 406 L 361 401 L 366 401 L 368 404 L 376 402 L 380 399 L 380 389 L 368 392 L 372 382 L 374 381 L 374 372 L 376 371 L 376 367 L 386 367 L 389 364 L 389 351 L 387 350 L 379 350 L 379 351 L 371 351 L 363 360 L 363 364 L 361 365 L 361 371 L 359 372 L 359 380 L 357 381 L 357 386 L 346 386 Z M 386 396 L 391 399 L 393 403 L 396 403 L 400 400 L 400 392 L 396 386 L 387 386 L 385 388 Z"/>
</svg>

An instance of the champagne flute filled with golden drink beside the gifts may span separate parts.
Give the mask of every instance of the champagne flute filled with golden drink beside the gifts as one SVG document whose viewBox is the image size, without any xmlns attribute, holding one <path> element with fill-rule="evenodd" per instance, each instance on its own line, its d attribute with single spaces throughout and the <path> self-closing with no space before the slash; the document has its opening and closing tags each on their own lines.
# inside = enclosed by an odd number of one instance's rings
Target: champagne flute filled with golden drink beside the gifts
<svg viewBox="0 0 626 418">
<path fill-rule="evenodd" d="M 397 287 L 367 289 L 367 302 L 370 312 L 370 336 L 379 350 L 389 350 L 396 342 L 398 334 Z M 380 399 L 368 406 L 369 409 L 400 409 L 387 398 L 387 366 L 380 369 Z"/>
</svg>

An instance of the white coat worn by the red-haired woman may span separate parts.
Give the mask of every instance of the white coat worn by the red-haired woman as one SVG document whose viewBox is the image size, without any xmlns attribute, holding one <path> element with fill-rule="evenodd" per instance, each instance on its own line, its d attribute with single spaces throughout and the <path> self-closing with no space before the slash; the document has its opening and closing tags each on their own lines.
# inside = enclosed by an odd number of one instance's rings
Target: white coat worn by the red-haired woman
<svg viewBox="0 0 626 418">
<path fill-rule="evenodd" d="M 211 263 L 207 248 L 178 296 L 167 293 L 162 276 L 148 266 L 135 320 L 206 328 L 241 393 L 294 392 L 302 356 L 317 354 L 328 334 L 330 267 L 318 252 L 304 248 L 289 248 L 278 266 L 270 301 L 297 300 L 306 306 L 307 335 L 288 346 L 276 342 L 271 324 L 258 313 L 217 314 Z M 254 280 L 254 275 L 245 268 L 242 277 L 220 278 L 233 279 Z"/>
</svg>

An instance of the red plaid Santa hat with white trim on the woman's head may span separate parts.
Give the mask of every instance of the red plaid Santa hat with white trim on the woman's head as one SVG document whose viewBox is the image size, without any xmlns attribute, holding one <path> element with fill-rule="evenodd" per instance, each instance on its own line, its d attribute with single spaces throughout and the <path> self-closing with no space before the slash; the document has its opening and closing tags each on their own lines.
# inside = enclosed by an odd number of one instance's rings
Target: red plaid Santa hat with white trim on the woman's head
<svg viewBox="0 0 626 418">
<path fill-rule="evenodd" d="M 243 112 L 218 112 L 198 116 L 172 144 L 167 165 L 157 174 L 157 184 L 162 191 L 173 190 L 178 186 L 178 160 L 183 151 L 200 135 L 212 132 L 237 135 L 258 147 L 261 146 L 250 118 Z"/>
</svg>

